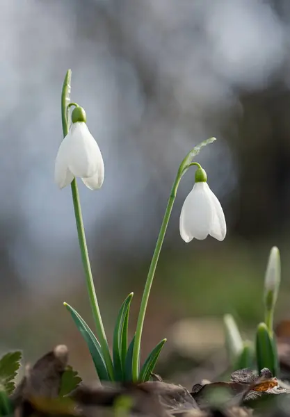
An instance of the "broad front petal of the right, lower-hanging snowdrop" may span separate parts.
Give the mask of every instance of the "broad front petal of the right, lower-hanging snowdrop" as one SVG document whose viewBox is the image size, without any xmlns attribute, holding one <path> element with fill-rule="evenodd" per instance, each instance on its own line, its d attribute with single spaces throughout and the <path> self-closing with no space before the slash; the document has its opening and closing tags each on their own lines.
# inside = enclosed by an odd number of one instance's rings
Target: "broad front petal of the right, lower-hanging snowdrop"
<svg viewBox="0 0 290 417">
<path fill-rule="evenodd" d="M 179 229 L 186 243 L 196 238 L 203 240 L 211 230 L 213 208 L 209 186 L 205 182 L 195 183 L 182 206 Z"/>
</svg>

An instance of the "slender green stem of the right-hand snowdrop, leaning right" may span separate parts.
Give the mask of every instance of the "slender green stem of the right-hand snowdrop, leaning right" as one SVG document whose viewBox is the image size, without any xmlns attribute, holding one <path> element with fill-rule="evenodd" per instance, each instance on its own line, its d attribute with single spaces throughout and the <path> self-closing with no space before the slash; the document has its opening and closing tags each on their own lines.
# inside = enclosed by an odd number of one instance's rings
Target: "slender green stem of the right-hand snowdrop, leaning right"
<svg viewBox="0 0 290 417">
<path fill-rule="evenodd" d="M 180 179 L 182 178 L 182 172 L 179 169 L 177 172 L 177 177 L 175 178 L 175 181 L 173 183 L 170 197 L 168 199 L 168 204 L 166 207 L 166 212 L 164 214 L 163 222 L 161 224 L 161 229 L 159 231 L 159 236 L 156 242 L 154 254 L 152 256 L 152 261 L 150 264 L 150 269 L 147 275 L 147 280 L 145 283 L 145 288 L 143 291 L 143 296 L 140 304 L 140 311 L 137 321 L 137 327 L 136 327 L 136 336 L 135 336 L 135 343 L 134 343 L 134 349 L 133 349 L 133 357 L 132 357 L 132 377 L 133 381 L 137 382 L 139 377 L 139 369 L 140 369 L 140 344 L 141 344 L 141 337 L 142 337 L 142 331 L 143 331 L 143 325 L 144 325 L 144 318 L 145 318 L 145 312 L 147 308 L 147 303 L 150 295 L 150 290 L 152 286 L 152 281 L 154 279 L 154 273 L 156 270 L 156 265 L 159 259 L 159 255 L 161 252 L 161 247 L 163 245 L 164 236 L 166 235 L 166 229 L 168 227 L 168 222 L 170 219 L 170 214 L 172 211 L 173 204 L 175 202 L 175 197 L 177 193 L 177 188 L 179 186 Z"/>
</svg>

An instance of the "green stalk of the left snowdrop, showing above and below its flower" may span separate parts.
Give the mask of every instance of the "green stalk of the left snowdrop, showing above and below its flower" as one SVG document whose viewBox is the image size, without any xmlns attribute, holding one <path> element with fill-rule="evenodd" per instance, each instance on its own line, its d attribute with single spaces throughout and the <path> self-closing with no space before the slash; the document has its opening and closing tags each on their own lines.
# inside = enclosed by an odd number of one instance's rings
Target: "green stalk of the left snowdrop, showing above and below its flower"
<svg viewBox="0 0 290 417">
<path fill-rule="evenodd" d="M 67 136 L 68 123 L 67 123 L 67 106 L 70 104 L 70 80 L 72 72 L 67 71 L 65 81 L 63 82 L 63 92 L 61 95 L 61 119 L 63 123 L 63 137 Z M 90 299 L 90 306 L 92 309 L 92 316 L 95 320 L 95 326 L 97 328 L 97 336 L 99 338 L 99 344 L 102 347 L 102 353 L 104 355 L 104 361 L 108 370 L 108 375 L 111 379 L 114 379 L 113 363 L 108 349 L 108 341 L 106 339 L 106 333 L 102 322 L 101 312 L 99 311 L 99 304 L 97 302 L 97 294 L 95 292 L 94 281 L 92 279 L 92 270 L 90 269 L 90 259 L 88 256 L 88 247 L 86 244 L 86 234 L 83 227 L 83 216 L 81 215 L 81 203 L 79 201 L 79 191 L 77 188 L 76 179 L 74 178 L 71 183 L 72 188 L 72 201 L 74 203 L 74 215 L 76 218 L 76 229 L 79 237 L 79 247 L 81 250 L 81 260 L 83 262 L 83 269 L 86 275 L 86 284 L 88 289 L 88 297 Z"/>
</svg>

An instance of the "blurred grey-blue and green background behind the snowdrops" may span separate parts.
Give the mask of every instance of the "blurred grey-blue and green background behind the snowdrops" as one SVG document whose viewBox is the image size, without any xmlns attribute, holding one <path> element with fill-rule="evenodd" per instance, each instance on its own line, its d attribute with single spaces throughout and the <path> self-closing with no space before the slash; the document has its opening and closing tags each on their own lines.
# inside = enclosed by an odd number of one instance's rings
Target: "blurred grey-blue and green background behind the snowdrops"
<svg viewBox="0 0 290 417">
<path fill-rule="evenodd" d="M 92 324 L 70 188 L 54 184 L 68 68 L 72 101 L 86 109 L 105 163 L 102 190 L 79 190 L 108 338 L 131 291 L 134 332 L 177 168 L 211 136 L 218 140 L 198 162 L 228 234 L 223 243 L 180 238 L 189 170 L 152 287 L 143 354 L 167 337 L 159 372 L 182 382 L 184 370 L 223 359 L 224 313 L 250 337 L 263 320 L 273 245 L 282 256 L 276 320 L 289 318 L 289 0 L 2 0 L 0 22 L 1 352 L 20 348 L 34 361 L 65 343 L 81 376 L 95 378 L 63 307 Z"/>
</svg>

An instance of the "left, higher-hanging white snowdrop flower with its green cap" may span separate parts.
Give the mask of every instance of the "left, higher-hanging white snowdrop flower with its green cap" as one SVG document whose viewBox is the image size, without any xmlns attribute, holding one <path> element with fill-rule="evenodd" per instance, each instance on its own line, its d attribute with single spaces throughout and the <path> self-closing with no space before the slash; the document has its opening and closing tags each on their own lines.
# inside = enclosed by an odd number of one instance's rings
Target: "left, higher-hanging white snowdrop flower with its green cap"
<svg viewBox="0 0 290 417">
<path fill-rule="evenodd" d="M 104 181 L 102 154 L 86 125 L 86 113 L 79 106 L 72 112 L 72 124 L 58 149 L 54 172 L 59 188 L 74 177 L 80 177 L 90 190 L 101 188 Z"/>
</svg>

